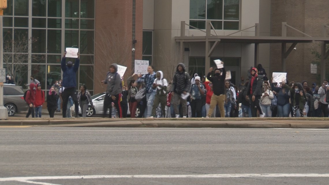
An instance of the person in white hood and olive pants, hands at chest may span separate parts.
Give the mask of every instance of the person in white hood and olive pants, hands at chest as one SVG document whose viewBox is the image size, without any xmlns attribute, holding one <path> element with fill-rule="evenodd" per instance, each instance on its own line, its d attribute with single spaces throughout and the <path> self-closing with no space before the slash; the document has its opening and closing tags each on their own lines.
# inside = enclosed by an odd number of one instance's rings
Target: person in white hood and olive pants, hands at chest
<svg viewBox="0 0 329 185">
<path fill-rule="evenodd" d="M 157 71 L 156 77 L 157 78 L 154 80 L 152 85 L 152 88 L 156 89 L 156 94 L 154 97 L 151 118 L 156 118 L 156 109 L 159 106 L 159 103 L 161 103 L 162 117 L 165 118 L 165 106 L 167 104 L 168 84 L 167 80 L 164 78 L 164 74 L 162 71 Z"/>
</svg>

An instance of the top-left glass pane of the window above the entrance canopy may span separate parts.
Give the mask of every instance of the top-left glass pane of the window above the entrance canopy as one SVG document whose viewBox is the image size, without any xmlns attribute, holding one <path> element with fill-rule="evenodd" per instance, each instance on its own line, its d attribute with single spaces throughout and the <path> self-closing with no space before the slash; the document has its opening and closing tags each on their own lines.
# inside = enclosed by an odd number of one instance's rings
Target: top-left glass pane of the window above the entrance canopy
<svg viewBox="0 0 329 185">
<path fill-rule="evenodd" d="M 206 18 L 206 0 L 190 0 L 190 19 Z"/>
</svg>

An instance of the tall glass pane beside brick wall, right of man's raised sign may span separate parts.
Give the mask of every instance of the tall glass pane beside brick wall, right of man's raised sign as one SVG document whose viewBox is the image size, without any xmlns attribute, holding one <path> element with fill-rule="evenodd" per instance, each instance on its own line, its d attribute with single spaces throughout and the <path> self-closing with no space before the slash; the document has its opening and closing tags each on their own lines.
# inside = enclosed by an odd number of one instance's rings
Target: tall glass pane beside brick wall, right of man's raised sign
<svg viewBox="0 0 329 185">
<path fill-rule="evenodd" d="M 80 31 L 81 54 L 94 54 L 94 31 Z"/>
</svg>

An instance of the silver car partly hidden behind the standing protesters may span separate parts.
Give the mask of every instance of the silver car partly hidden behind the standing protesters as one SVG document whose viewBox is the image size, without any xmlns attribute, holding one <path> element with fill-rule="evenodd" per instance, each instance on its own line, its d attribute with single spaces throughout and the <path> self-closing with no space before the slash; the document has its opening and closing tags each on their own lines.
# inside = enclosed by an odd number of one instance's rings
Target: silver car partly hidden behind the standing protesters
<svg viewBox="0 0 329 185">
<path fill-rule="evenodd" d="M 103 105 L 104 105 L 105 94 L 106 93 L 103 92 L 103 93 L 98 93 L 98 94 L 95 94 L 95 95 L 91 96 L 92 103 L 94 104 L 94 108 L 92 108 L 90 104 L 88 105 L 87 117 L 92 117 L 94 115 L 103 115 L 104 114 Z M 139 106 L 137 106 L 135 116 L 138 117 L 139 113 L 140 113 L 140 109 L 139 109 Z M 109 109 L 108 109 L 108 114 L 109 114 Z M 80 106 L 79 106 L 79 115 L 81 116 Z M 127 115 L 130 115 L 129 109 L 128 109 Z"/>
</svg>

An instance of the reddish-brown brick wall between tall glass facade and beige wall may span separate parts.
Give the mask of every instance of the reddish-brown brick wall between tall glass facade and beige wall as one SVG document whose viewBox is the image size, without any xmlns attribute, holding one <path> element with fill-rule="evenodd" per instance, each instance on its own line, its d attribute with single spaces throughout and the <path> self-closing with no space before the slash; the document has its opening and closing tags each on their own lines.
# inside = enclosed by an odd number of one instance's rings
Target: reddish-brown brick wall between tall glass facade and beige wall
<svg viewBox="0 0 329 185">
<path fill-rule="evenodd" d="M 132 0 L 95 1 L 95 93 L 104 92 L 101 85 L 112 63 L 127 66 L 124 78 L 132 71 Z M 136 0 L 135 58 L 142 55 L 143 0 Z"/>
</svg>

